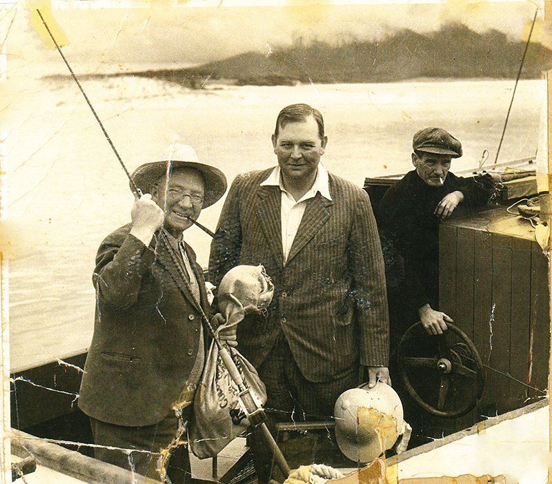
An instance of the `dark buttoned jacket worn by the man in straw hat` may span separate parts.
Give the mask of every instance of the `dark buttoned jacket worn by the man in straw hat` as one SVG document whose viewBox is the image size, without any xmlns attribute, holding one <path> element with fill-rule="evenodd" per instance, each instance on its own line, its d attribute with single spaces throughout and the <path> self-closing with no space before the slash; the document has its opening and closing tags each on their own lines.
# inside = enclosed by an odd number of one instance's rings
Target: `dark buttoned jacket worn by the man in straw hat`
<svg viewBox="0 0 552 484">
<path fill-rule="evenodd" d="M 130 224 L 119 228 L 97 252 L 96 319 L 79 407 L 99 421 L 138 427 L 171 412 L 197 356 L 201 313 L 166 245 L 154 238 L 146 247 L 129 232 Z M 186 250 L 207 312 L 201 268 Z"/>
</svg>

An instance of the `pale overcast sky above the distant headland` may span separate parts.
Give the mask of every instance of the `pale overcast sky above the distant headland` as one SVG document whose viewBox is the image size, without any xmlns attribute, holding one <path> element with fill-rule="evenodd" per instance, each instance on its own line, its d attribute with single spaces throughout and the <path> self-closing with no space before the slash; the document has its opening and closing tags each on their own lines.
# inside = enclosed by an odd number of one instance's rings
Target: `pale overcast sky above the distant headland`
<svg viewBox="0 0 552 484">
<path fill-rule="evenodd" d="M 521 39 L 535 12 L 529 1 L 462 0 L 248 8 L 226 1 L 221 8 L 190 7 L 193 3 L 185 8 L 148 7 L 146 2 L 139 4 L 143 8 L 82 8 L 97 6 L 93 1 L 61 5 L 64 8 L 53 10 L 53 15 L 68 39 L 63 52 L 80 73 L 181 67 L 251 50 L 268 54 L 297 39 L 373 40 L 400 28 L 431 32 L 454 21 L 477 32 L 495 28 Z M 20 3 L 8 37 L 8 72 L 31 63 L 39 63 L 44 72 L 66 72 L 59 54 L 44 48 L 30 26 L 29 10 Z"/>
</svg>

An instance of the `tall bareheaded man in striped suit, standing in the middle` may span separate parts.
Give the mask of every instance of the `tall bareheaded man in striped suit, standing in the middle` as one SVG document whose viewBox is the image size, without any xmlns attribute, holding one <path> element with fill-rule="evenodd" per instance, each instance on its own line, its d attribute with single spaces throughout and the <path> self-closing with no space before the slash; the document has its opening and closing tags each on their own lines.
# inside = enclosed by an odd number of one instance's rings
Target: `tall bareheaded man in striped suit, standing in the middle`
<svg viewBox="0 0 552 484">
<path fill-rule="evenodd" d="M 366 368 L 371 386 L 390 383 L 384 262 L 370 200 L 319 163 L 327 141 L 318 110 L 284 108 L 272 135 L 278 165 L 234 180 L 211 245 L 211 282 L 235 265 L 262 264 L 275 285 L 268 315 L 247 316 L 237 341 L 279 420 L 327 419 Z M 269 459 L 257 452 L 255 467 L 267 482 Z"/>
</svg>

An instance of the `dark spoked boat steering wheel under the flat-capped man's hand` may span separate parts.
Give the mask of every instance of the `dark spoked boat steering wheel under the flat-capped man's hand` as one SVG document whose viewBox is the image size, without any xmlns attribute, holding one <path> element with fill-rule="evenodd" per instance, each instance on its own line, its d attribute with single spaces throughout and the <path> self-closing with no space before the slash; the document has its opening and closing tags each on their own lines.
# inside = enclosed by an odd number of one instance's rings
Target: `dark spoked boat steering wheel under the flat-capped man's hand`
<svg viewBox="0 0 552 484">
<path fill-rule="evenodd" d="M 412 325 L 397 348 L 400 378 L 408 394 L 430 414 L 456 419 L 473 410 L 484 385 L 483 365 L 472 341 L 451 323 L 430 335 Z"/>
</svg>

